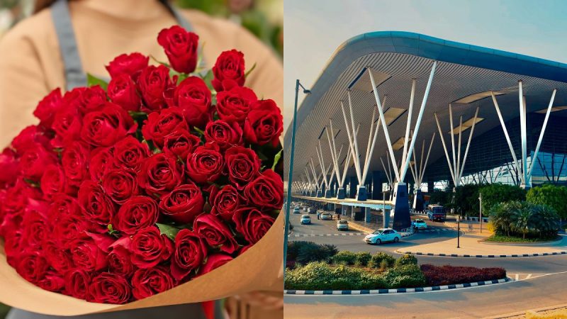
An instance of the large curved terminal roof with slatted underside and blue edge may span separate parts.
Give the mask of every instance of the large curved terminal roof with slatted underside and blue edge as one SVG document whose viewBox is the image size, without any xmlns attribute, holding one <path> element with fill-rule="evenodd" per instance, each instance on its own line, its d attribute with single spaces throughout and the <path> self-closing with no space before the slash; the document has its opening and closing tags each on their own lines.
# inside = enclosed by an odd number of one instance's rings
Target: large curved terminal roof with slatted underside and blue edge
<svg viewBox="0 0 567 319">
<path fill-rule="evenodd" d="M 547 107 L 553 89 L 558 89 L 554 106 L 567 106 L 566 64 L 417 33 L 364 33 L 347 40 L 337 48 L 315 85 L 310 88 L 312 94 L 306 96 L 298 108 L 294 180 L 297 181 L 299 175 L 303 174 L 312 157 L 317 171 L 320 172 L 315 153 L 318 139 L 322 143 L 325 165 L 330 164 L 330 150 L 324 132 L 325 126 L 329 125 L 329 119 L 333 122 L 337 152 L 340 145 L 344 145 L 339 164 L 344 162 L 349 144 L 340 101 L 345 101 L 345 111 L 348 114 L 347 89 L 352 89 L 354 121 L 360 123 L 359 150 L 364 164 L 372 111 L 376 108 L 367 67 L 373 71 L 381 99 L 387 96 L 384 112 L 390 122 L 388 131 L 391 142 L 394 144 L 398 141 L 399 144 L 400 138 L 405 135 L 412 79 L 417 79 L 411 126 L 414 128 L 434 61 L 437 61 L 437 69 L 417 136 L 416 150 L 420 150 L 422 140 L 429 141 L 434 132 L 439 135 L 434 113 L 439 116 L 446 142 L 449 141 L 449 103 L 453 104 L 454 128 L 458 127 L 460 116 L 464 122 L 472 119 L 476 107 L 480 107 L 478 117 L 483 121 L 476 124 L 474 136 L 500 125 L 493 101 L 490 95 L 486 94 L 488 91 L 494 91 L 497 95 L 505 121 L 519 116 L 517 82 L 520 79 L 528 116 L 530 112 Z M 564 112 L 552 114 L 559 113 Z M 388 148 L 383 128 L 380 130 L 371 157 L 370 171 L 383 171 L 379 157 L 383 157 L 386 163 Z M 463 134 L 464 145 L 469 131 L 466 130 Z M 287 130 L 284 142 L 286 147 L 290 147 L 291 129 Z M 515 145 L 519 142 L 512 141 Z M 448 147 L 451 152 L 450 145 Z M 400 159 L 401 152 L 401 149 L 395 150 L 397 160 Z M 290 152 L 286 152 L 286 163 L 289 162 L 289 156 Z M 439 137 L 436 137 L 429 163 L 443 156 L 442 143 Z M 342 167 L 341 164 L 341 171 Z M 352 172 L 349 172 L 349 175 L 354 174 L 352 164 L 350 169 Z"/>
</svg>

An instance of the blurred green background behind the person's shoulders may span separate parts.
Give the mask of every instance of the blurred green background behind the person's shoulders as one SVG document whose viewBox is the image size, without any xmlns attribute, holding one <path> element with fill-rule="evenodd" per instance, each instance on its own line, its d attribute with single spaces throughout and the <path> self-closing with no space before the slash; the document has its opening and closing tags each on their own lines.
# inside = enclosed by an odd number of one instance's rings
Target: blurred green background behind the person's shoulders
<svg viewBox="0 0 567 319">
<path fill-rule="evenodd" d="M 283 0 L 176 0 L 181 8 L 204 11 L 240 24 L 283 55 Z M 0 38 L 33 12 L 34 0 L 0 0 Z M 9 307 L 0 303 L 0 319 Z"/>
</svg>

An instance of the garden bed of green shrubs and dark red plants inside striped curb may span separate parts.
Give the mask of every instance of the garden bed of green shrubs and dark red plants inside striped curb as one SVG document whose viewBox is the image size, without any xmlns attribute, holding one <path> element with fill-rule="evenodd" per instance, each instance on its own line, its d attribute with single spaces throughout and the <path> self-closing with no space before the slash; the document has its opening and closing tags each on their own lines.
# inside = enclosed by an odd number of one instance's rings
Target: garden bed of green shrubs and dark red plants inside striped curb
<svg viewBox="0 0 567 319">
<path fill-rule="evenodd" d="M 503 268 L 417 265 L 404 254 L 337 252 L 332 245 L 290 242 L 284 286 L 293 290 L 396 289 L 503 279 Z"/>
</svg>

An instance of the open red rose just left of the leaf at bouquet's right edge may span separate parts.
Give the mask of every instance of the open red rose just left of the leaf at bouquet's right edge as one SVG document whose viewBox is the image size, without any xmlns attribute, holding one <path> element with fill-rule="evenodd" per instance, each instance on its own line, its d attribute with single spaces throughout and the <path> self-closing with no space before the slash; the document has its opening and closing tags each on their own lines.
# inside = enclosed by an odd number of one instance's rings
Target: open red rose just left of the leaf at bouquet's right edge
<svg viewBox="0 0 567 319">
<path fill-rule="evenodd" d="M 228 179 L 237 189 L 244 189 L 260 174 L 262 162 L 252 149 L 242 146 L 230 147 L 225 152 L 225 160 Z"/>
</svg>

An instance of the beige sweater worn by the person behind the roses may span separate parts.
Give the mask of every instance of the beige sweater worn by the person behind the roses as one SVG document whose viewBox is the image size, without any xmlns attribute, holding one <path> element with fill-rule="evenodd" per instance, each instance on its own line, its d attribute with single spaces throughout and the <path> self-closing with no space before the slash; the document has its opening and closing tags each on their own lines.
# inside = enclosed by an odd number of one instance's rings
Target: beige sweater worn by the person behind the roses
<svg viewBox="0 0 567 319">
<path fill-rule="evenodd" d="M 167 61 L 157 33 L 176 23 L 157 0 L 77 0 L 69 2 L 75 38 L 85 72 L 109 77 L 105 65 L 122 53 L 140 52 Z M 281 61 L 253 35 L 229 21 L 194 10 L 181 13 L 203 45 L 208 67 L 223 50 L 245 53 L 246 66 L 256 69 L 245 85 L 259 97 L 283 103 Z M 64 89 L 62 57 L 50 9 L 18 23 L 0 39 L 0 150 L 27 125 L 52 89 Z"/>
</svg>

